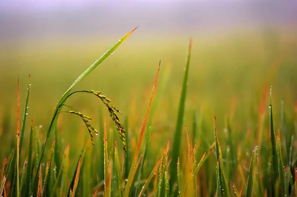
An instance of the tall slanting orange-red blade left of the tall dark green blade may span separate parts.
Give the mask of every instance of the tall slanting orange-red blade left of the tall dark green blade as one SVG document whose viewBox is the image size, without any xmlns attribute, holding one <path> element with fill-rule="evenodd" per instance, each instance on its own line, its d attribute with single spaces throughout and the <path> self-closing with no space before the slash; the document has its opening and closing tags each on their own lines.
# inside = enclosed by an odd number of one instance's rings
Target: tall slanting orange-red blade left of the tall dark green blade
<svg viewBox="0 0 297 197">
<path fill-rule="evenodd" d="M 161 61 L 159 62 L 158 71 L 157 71 L 156 78 L 155 78 L 155 81 L 154 81 L 154 84 L 153 84 L 153 87 L 152 87 L 152 91 L 151 91 L 151 94 L 150 94 L 150 98 L 149 98 L 149 101 L 148 101 L 148 108 L 147 108 L 147 112 L 146 112 L 146 115 L 145 115 L 144 122 L 143 122 L 142 127 L 141 127 L 141 133 L 140 133 L 138 145 L 137 145 L 137 148 L 136 148 L 136 151 L 135 151 L 134 159 L 132 161 L 132 165 L 131 165 L 131 168 L 130 168 L 130 172 L 129 172 L 129 176 L 128 176 L 128 182 L 126 184 L 126 188 L 125 188 L 125 192 L 124 192 L 124 197 L 129 196 L 130 189 L 131 189 L 131 186 L 132 186 L 132 181 L 134 179 L 134 176 L 135 176 L 135 173 L 136 173 L 136 170 L 137 170 L 137 160 L 138 160 L 138 157 L 139 157 L 139 151 L 140 151 L 140 147 L 141 147 L 143 137 L 144 137 L 144 133 L 145 133 L 145 130 L 146 130 L 149 109 L 150 109 L 153 94 L 154 94 L 154 91 L 155 91 L 155 88 L 156 88 L 156 85 L 157 85 L 160 67 L 161 67 Z"/>
</svg>

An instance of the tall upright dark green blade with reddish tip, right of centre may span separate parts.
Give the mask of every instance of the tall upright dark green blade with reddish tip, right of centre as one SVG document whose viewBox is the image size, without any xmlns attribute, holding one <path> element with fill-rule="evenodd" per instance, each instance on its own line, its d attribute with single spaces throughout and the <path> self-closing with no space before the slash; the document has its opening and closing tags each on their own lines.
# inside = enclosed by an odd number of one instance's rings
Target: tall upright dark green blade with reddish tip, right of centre
<svg viewBox="0 0 297 197">
<path fill-rule="evenodd" d="M 176 129 L 174 134 L 174 140 L 173 140 L 173 147 L 172 147 L 172 162 L 170 165 L 170 188 L 173 187 L 173 185 L 176 182 L 177 175 L 176 175 L 176 165 L 177 160 L 179 157 L 180 147 L 181 147 L 181 137 L 182 137 L 182 129 L 183 129 L 183 119 L 184 119 L 184 113 L 185 113 L 185 102 L 186 102 L 186 95 L 187 95 L 187 83 L 188 83 L 188 75 L 189 75 L 189 65 L 190 65 L 190 57 L 191 57 L 191 49 L 192 49 L 192 39 L 189 43 L 188 48 L 188 57 L 187 57 L 187 63 L 186 63 L 186 69 L 185 69 L 185 75 L 184 75 L 184 81 L 183 81 L 183 87 L 181 92 L 181 98 L 179 102 L 179 109 L 178 109 L 178 116 L 176 121 Z"/>
</svg>

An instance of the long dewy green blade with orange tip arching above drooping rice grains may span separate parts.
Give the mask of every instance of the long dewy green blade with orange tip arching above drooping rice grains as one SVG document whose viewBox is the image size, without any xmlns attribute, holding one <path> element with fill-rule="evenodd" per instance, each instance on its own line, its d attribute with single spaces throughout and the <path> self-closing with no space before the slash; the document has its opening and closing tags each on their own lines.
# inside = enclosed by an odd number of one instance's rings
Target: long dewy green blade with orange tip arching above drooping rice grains
<svg viewBox="0 0 297 197">
<path fill-rule="evenodd" d="M 137 27 L 136 27 L 137 28 Z M 133 29 L 131 32 L 129 32 L 128 34 L 126 34 L 124 37 L 122 37 L 120 40 L 118 40 L 116 43 L 114 43 L 109 49 L 107 49 L 102 55 L 101 57 L 99 57 L 99 59 L 97 59 L 90 67 L 88 67 L 74 82 L 73 84 L 68 88 L 68 90 L 63 94 L 63 96 L 59 99 L 59 101 L 57 102 L 57 106 L 55 107 L 52 119 L 49 123 L 49 128 L 46 134 L 46 140 L 45 143 L 43 145 L 41 154 L 40 154 L 40 158 L 39 158 L 39 164 L 38 164 L 38 168 L 37 168 L 37 172 L 39 171 L 40 168 L 40 164 L 42 161 L 42 156 L 44 154 L 45 151 L 45 147 L 46 144 L 48 142 L 49 136 L 51 134 L 51 131 L 53 130 L 53 128 L 55 127 L 56 123 L 57 123 L 57 119 L 59 116 L 59 112 L 61 111 L 62 107 L 61 104 L 63 104 L 63 102 L 65 102 L 65 99 L 68 97 L 68 95 L 70 94 L 71 89 L 78 83 L 80 82 L 83 78 L 85 78 L 90 72 L 92 72 L 104 59 L 106 59 L 106 57 L 108 57 L 115 49 L 117 49 L 135 30 Z M 38 173 L 36 173 L 35 178 L 34 178 L 34 182 L 33 182 L 33 188 L 35 188 L 36 184 L 37 184 L 37 180 L 38 180 Z M 33 190 L 31 191 L 31 194 L 33 194 Z"/>
</svg>

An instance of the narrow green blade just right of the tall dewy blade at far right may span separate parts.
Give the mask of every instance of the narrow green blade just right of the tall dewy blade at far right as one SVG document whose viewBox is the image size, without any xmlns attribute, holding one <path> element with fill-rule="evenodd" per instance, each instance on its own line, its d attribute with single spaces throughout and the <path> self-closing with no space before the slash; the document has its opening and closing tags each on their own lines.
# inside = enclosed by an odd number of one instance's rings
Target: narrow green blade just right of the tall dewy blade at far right
<svg viewBox="0 0 297 197">
<path fill-rule="evenodd" d="M 285 173 L 285 166 L 283 162 L 283 156 L 282 156 L 282 147 L 281 147 L 281 137 L 280 137 L 280 130 L 277 132 L 277 141 L 276 141 L 276 150 L 277 150 L 277 161 L 278 161 L 278 172 L 279 172 L 279 181 L 281 186 L 281 195 L 283 197 L 288 196 L 288 190 L 287 190 L 287 177 Z"/>
</svg>

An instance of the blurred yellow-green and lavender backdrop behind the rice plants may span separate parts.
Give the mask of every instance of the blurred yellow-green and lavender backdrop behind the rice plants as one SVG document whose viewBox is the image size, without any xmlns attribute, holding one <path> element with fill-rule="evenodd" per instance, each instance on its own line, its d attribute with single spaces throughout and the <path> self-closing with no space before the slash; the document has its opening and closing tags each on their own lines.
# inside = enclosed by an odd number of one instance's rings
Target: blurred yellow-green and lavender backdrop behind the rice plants
<svg viewBox="0 0 297 197">
<path fill-rule="evenodd" d="M 1 117 L 10 117 L 15 127 L 17 78 L 23 106 L 31 74 L 28 118 L 46 130 L 57 100 L 76 77 L 136 26 L 75 88 L 102 91 L 135 130 L 140 130 L 161 60 L 159 80 L 164 85 L 156 90 L 160 102 L 152 119 L 155 128 L 162 128 L 164 142 L 172 138 L 190 38 L 185 124 L 192 124 L 196 111 L 209 121 L 209 128 L 214 114 L 221 129 L 226 115 L 246 128 L 248 117 L 258 111 L 265 84 L 273 87 L 277 111 L 282 99 L 290 110 L 295 106 L 297 1 L 1 0 Z M 101 105 L 79 94 L 68 103 L 95 117 Z M 278 120 L 279 114 L 275 116 Z M 61 118 L 67 129 L 78 127 L 70 124 L 75 117 Z"/>
</svg>

